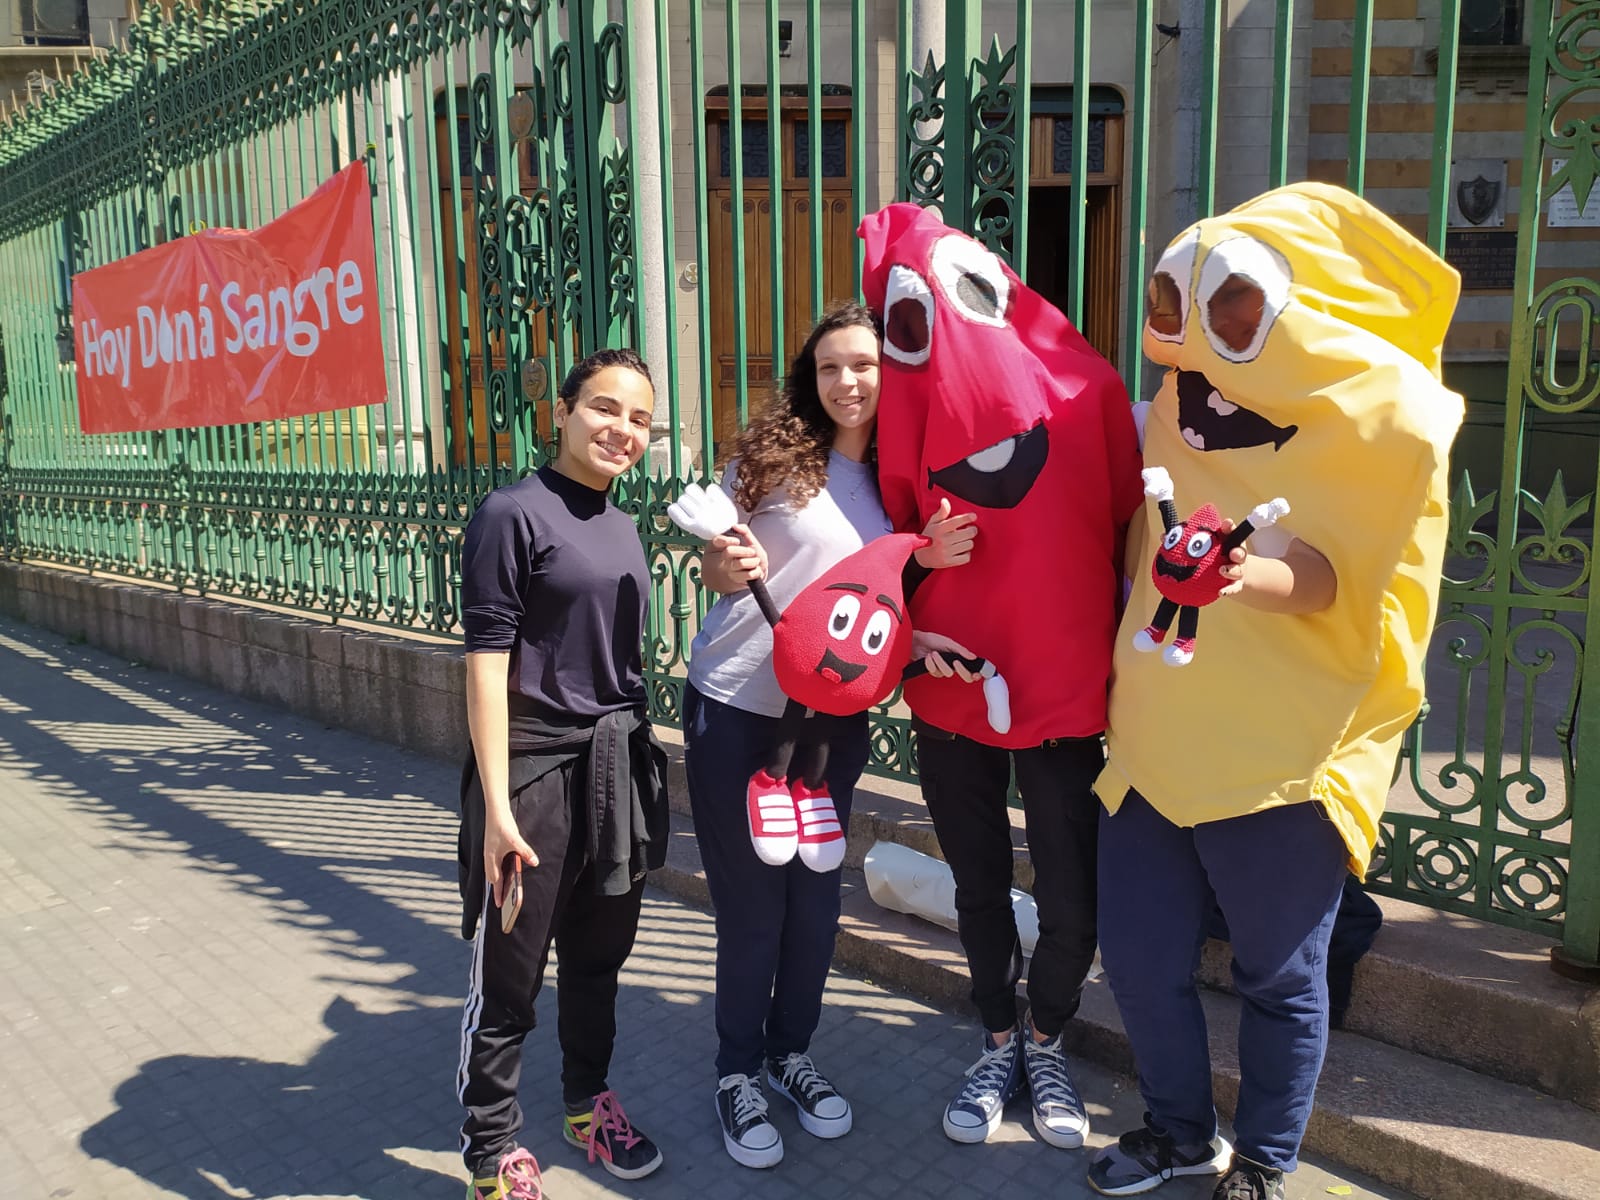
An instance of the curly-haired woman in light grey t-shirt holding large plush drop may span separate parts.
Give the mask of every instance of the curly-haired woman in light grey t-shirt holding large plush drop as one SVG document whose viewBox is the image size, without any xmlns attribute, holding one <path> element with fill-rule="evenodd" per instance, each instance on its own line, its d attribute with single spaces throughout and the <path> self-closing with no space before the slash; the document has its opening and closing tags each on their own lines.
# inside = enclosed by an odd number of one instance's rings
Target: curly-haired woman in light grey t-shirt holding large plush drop
<svg viewBox="0 0 1600 1200">
<path fill-rule="evenodd" d="M 717 1115 L 723 1146 L 746 1166 L 773 1166 L 782 1138 L 766 1117 L 766 1082 L 818 1138 L 850 1131 L 850 1104 L 806 1054 L 838 928 L 840 870 L 798 858 L 763 862 L 750 842 L 746 786 L 778 739 L 786 698 L 773 675 L 773 635 L 752 579 L 782 608 L 834 563 L 890 533 L 878 498 L 874 430 L 878 326 L 859 304 L 818 323 L 782 392 L 738 440 L 723 488 L 739 509 L 734 534 L 707 544 L 701 579 L 722 600 L 690 651 L 683 730 L 690 800 L 706 882 L 717 909 Z M 971 554 L 971 515 L 930 522 L 925 568 Z M 918 653 L 949 650 L 920 638 Z M 942 672 L 941 672 L 942 674 Z M 829 717 L 827 786 L 850 826 L 867 765 L 867 714 Z"/>
</svg>

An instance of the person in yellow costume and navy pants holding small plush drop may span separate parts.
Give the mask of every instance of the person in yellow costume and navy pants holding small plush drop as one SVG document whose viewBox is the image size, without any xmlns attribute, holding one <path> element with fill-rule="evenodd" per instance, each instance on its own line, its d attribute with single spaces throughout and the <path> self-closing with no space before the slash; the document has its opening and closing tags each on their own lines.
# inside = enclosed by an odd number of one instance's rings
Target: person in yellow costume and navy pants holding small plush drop
<svg viewBox="0 0 1600 1200">
<path fill-rule="evenodd" d="M 1285 1195 L 1328 1042 L 1333 917 L 1422 701 L 1462 416 L 1440 382 L 1458 294 L 1427 246 L 1322 184 L 1200 221 L 1155 267 L 1144 352 L 1168 373 L 1146 467 L 1184 512 L 1243 520 L 1283 498 L 1288 515 L 1232 550 L 1182 651 L 1147 653 L 1157 506 L 1130 530 L 1099 941 L 1149 1112 L 1093 1160 L 1106 1195 L 1176 1174 L 1221 1174 L 1214 1200 Z M 1213 896 L 1242 998 L 1232 1147 L 1194 984 Z"/>
</svg>

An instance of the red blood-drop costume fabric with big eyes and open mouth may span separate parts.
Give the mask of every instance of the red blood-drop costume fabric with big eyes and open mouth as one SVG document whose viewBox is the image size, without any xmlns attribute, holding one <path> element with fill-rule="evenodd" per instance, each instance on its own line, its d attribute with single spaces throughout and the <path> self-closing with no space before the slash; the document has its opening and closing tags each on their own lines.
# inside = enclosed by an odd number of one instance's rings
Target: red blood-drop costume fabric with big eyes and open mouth
<svg viewBox="0 0 1600 1200">
<path fill-rule="evenodd" d="M 1144 499 L 1128 394 L 1107 363 L 995 254 L 915 205 L 861 224 L 862 290 L 883 314 L 878 482 L 896 530 L 939 506 L 978 514 L 968 565 L 934 571 L 912 624 L 989 659 L 1010 733 L 979 688 L 906 685 L 931 725 L 1021 749 L 1106 728 L 1122 541 Z"/>
</svg>

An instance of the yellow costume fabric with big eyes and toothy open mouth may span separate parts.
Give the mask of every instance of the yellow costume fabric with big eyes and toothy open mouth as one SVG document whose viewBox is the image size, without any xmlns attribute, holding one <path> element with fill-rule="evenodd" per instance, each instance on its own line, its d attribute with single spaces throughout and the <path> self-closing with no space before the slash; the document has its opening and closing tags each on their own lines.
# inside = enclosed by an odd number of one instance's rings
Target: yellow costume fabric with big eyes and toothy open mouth
<svg viewBox="0 0 1600 1200">
<path fill-rule="evenodd" d="M 1440 357 L 1458 294 L 1427 246 L 1322 184 L 1200 221 L 1162 256 L 1144 350 L 1171 370 L 1146 421 L 1146 467 L 1171 474 L 1179 514 L 1211 502 L 1242 522 L 1288 499 L 1250 552 L 1299 538 L 1333 565 L 1338 598 L 1282 616 L 1224 597 L 1200 610 L 1189 666 L 1136 651 L 1160 600 L 1163 530 L 1147 501 L 1096 784 L 1107 810 L 1130 787 L 1178 826 L 1317 802 L 1365 874 L 1438 605 L 1462 416 Z"/>
</svg>

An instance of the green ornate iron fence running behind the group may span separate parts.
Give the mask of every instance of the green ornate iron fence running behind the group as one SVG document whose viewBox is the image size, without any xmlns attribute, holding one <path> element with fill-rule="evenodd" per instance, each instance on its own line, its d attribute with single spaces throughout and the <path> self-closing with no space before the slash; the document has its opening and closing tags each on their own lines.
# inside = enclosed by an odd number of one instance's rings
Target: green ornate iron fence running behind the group
<svg viewBox="0 0 1600 1200">
<path fill-rule="evenodd" d="M 453 634 L 474 506 L 541 461 L 573 358 L 632 342 L 666 403 L 621 499 L 656 584 L 651 699 L 675 722 L 709 597 L 664 504 L 714 467 L 811 318 L 856 291 L 864 213 L 938 205 L 1138 397 L 1154 386 L 1142 282 L 1184 224 L 1310 176 L 1445 250 L 1453 160 L 1498 157 L 1515 261 L 1464 301 L 1458 333 L 1498 330 L 1502 365 L 1458 454 L 1430 709 L 1374 886 L 1595 963 L 1600 795 L 1582 782 L 1600 730 L 1579 694 L 1600 654 L 1600 258 L 1547 210 L 1568 197 L 1581 230 L 1600 173 L 1600 3 L 1162 10 L 1178 19 L 1090 0 L 149 5 L 122 53 L 0 126 L 0 552 Z M 1474 72 L 1494 70 L 1525 90 L 1491 83 L 1485 101 Z M 1486 133 L 1507 109 L 1509 149 Z M 389 403 L 77 430 L 74 272 L 261 224 L 358 157 Z M 874 770 L 914 771 L 888 709 Z"/>
</svg>

